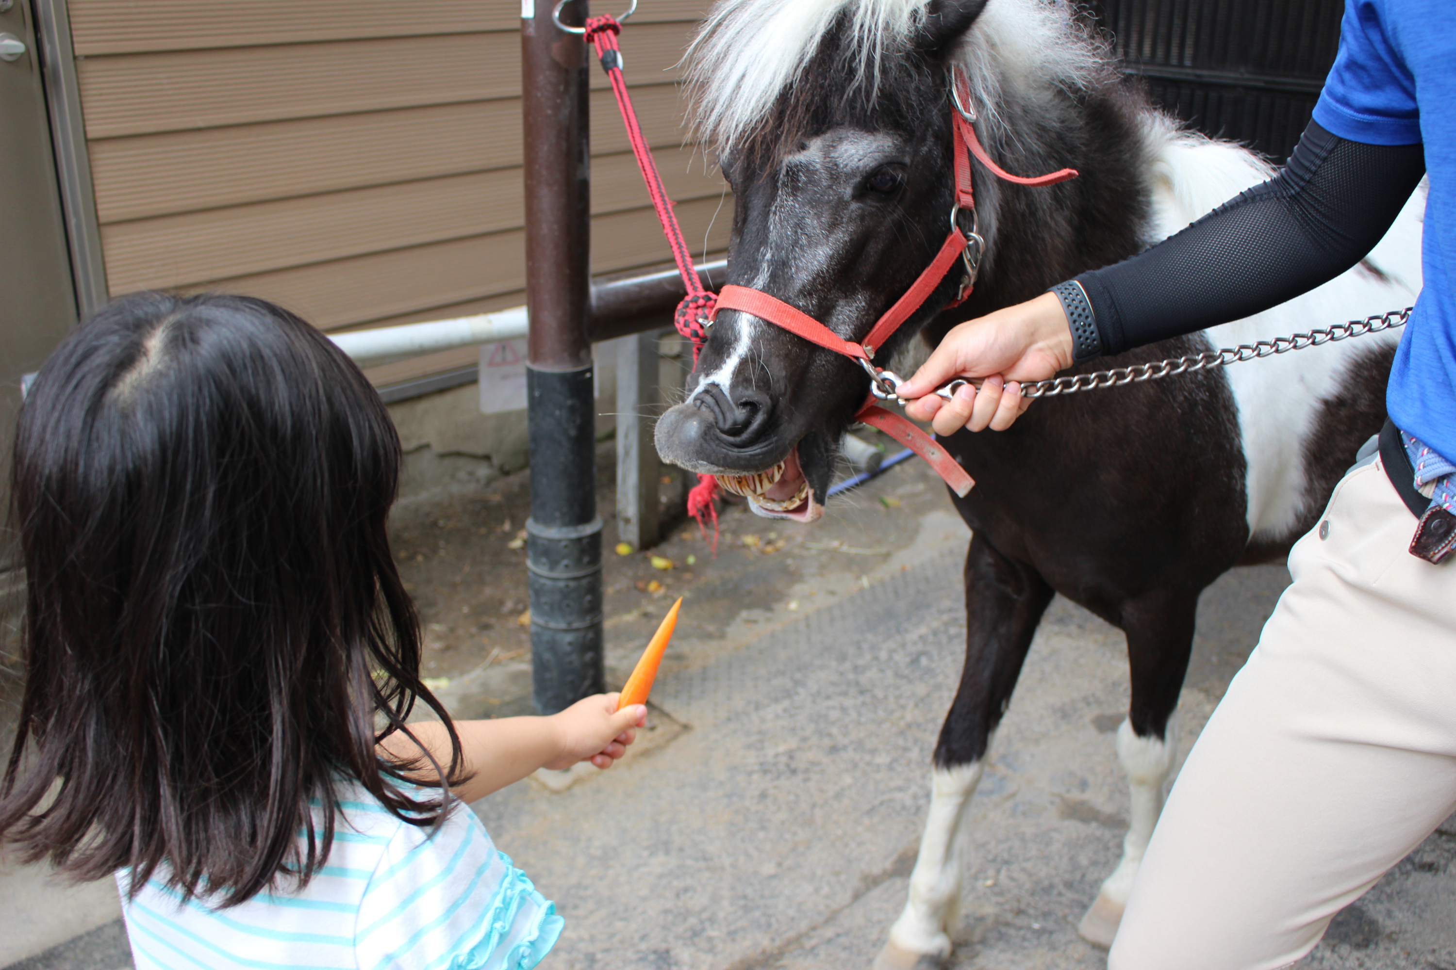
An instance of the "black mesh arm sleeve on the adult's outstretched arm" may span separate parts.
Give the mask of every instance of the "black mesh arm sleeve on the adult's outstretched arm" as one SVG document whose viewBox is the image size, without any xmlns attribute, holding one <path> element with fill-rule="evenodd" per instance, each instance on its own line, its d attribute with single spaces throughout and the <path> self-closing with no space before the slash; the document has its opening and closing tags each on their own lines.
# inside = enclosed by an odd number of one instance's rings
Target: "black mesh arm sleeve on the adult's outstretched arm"
<svg viewBox="0 0 1456 970">
<path fill-rule="evenodd" d="M 1423 145 L 1367 145 L 1310 122 L 1274 179 L 1176 236 L 1076 278 L 1104 353 L 1268 310 L 1369 253 L 1425 175 Z"/>
</svg>

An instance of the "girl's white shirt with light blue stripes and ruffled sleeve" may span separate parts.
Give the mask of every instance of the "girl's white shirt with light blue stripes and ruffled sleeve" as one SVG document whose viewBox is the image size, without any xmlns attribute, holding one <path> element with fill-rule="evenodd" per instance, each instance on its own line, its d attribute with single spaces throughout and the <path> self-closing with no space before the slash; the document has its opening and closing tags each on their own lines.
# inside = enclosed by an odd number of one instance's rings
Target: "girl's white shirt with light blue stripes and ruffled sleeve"
<svg viewBox="0 0 1456 970">
<path fill-rule="evenodd" d="M 555 906 L 467 807 L 431 838 L 363 788 L 347 797 L 326 865 L 301 890 L 211 909 L 183 903 L 167 873 L 128 900 L 130 871 L 118 873 L 137 969 L 526 970 L 556 942 Z"/>
</svg>

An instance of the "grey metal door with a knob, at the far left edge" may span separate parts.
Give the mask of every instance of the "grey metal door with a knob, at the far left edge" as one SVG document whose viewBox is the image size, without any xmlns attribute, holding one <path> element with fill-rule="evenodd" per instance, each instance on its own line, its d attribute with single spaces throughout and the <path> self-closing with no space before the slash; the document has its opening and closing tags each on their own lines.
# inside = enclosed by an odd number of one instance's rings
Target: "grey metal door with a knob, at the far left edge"
<svg viewBox="0 0 1456 970">
<path fill-rule="evenodd" d="M 0 0 L 0 509 L 9 505 L 20 377 L 35 371 L 74 323 L 35 17 L 31 0 Z M 0 540 L 0 569 L 7 545 Z"/>
</svg>

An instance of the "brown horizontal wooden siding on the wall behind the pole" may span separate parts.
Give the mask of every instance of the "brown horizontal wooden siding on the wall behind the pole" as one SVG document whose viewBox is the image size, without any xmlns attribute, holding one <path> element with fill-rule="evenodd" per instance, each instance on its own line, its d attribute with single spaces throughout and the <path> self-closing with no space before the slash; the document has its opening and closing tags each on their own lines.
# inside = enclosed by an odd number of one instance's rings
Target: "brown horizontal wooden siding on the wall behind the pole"
<svg viewBox="0 0 1456 970">
<path fill-rule="evenodd" d="M 686 141 L 676 68 L 705 7 L 644 4 L 622 47 L 684 233 L 718 253 L 732 199 Z M 329 330 L 523 302 L 518 12 L 71 0 L 111 291 L 252 292 Z M 594 64 L 593 87 L 593 270 L 662 263 Z"/>
</svg>

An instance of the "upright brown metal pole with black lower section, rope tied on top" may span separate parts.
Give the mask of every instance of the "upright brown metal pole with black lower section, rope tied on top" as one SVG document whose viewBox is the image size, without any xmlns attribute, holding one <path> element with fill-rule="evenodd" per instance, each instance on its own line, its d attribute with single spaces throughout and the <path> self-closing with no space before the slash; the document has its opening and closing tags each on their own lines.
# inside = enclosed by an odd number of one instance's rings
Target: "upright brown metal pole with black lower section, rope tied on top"
<svg viewBox="0 0 1456 970">
<path fill-rule="evenodd" d="M 556 29 L 550 10 L 552 0 L 527 0 L 523 15 L 531 16 L 521 17 L 531 460 L 526 567 L 531 686 L 543 714 L 606 689 L 596 400 L 587 334 L 587 45 L 579 35 Z M 562 19 L 579 23 L 585 16 L 585 0 L 577 0 Z"/>
</svg>

